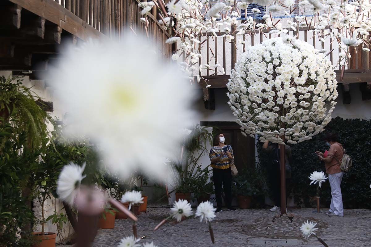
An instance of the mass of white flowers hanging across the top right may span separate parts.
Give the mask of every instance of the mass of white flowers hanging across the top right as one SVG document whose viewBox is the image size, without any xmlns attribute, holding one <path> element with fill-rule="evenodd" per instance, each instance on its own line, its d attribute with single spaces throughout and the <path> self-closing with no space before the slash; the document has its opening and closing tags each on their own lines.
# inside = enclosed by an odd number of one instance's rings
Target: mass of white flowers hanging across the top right
<svg viewBox="0 0 371 247">
<path fill-rule="evenodd" d="M 251 3 L 265 6 L 265 14 L 256 7 L 249 9 Z M 243 44 L 244 35 L 251 36 L 263 29 L 269 29 L 272 38 L 281 35 L 288 36 L 289 39 L 299 38 L 299 32 L 295 31 L 311 30 L 313 35 L 310 39 L 313 41 L 333 43 L 333 49 L 340 49 L 339 59 L 334 62 L 334 67 L 348 64 L 353 46 L 362 44 L 364 52 L 370 51 L 368 35 L 371 31 L 371 7 L 368 1 L 173 0 L 167 3 L 167 11 L 163 0 L 148 3 L 138 1 L 138 6 L 142 9 L 145 28 L 151 8 L 157 9 L 161 19 L 158 24 L 173 36 L 167 43 L 178 43 L 178 51 L 173 59 L 191 80 L 196 76 L 197 81 L 200 81 L 198 69 L 214 73 L 213 66 L 209 64 L 213 59 L 206 61 L 206 64 L 203 64 L 204 60 L 202 64 L 198 63 L 198 59 L 202 57 L 199 46 L 205 45 L 201 41 L 205 33 L 225 38 L 227 43 L 237 41 Z M 262 18 L 264 23 L 256 23 L 255 17 Z M 281 21 L 283 19 L 287 21 Z M 322 48 L 322 52 L 329 51 Z M 182 53 L 183 58 L 180 57 Z M 219 70 L 215 74 L 224 74 L 224 71 Z"/>
</svg>

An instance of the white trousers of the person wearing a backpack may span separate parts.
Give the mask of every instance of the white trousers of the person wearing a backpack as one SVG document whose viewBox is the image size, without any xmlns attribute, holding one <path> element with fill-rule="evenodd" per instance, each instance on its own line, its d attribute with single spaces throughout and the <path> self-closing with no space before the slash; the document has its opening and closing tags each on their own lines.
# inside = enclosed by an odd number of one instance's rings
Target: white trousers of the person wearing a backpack
<svg viewBox="0 0 371 247">
<path fill-rule="evenodd" d="M 330 212 L 339 216 L 344 216 L 343 198 L 341 196 L 341 179 L 343 178 L 344 171 L 328 174 L 328 181 L 331 186 L 331 205 Z"/>
</svg>

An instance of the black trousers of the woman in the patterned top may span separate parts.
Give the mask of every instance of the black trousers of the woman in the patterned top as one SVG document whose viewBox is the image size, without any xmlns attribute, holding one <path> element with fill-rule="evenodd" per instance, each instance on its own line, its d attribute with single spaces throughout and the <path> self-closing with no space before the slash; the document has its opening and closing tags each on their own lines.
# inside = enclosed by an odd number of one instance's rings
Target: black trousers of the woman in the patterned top
<svg viewBox="0 0 371 247">
<path fill-rule="evenodd" d="M 218 208 L 221 207 L 221 187 L 223 184 L 226 206 L 231 207 L 232 204 L 232 174 L 231 168 L 228 169 L 216 169 L 213 168 L 213 180 L 215 188 L 216 205 Z"/>
</svg>

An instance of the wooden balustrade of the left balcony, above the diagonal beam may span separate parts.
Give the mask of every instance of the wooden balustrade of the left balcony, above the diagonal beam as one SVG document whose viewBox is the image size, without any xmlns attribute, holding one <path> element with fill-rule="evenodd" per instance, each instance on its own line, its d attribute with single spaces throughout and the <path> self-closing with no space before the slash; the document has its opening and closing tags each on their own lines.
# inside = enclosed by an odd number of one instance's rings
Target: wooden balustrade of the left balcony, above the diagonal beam
<svg viewBox="0 0 371 247">
<path fill-rule="evenodd" d="M 165 57 L 171 56 L 171 45 L 165 44 L 169 36 L 158 24 L 155 8 L 148 15 L 146 25 L 140 22 L 142 16 L 136 0 L 55 1 L 108 37 L 125 37 L 127 32 L 147 37 Z"/>
</svg>

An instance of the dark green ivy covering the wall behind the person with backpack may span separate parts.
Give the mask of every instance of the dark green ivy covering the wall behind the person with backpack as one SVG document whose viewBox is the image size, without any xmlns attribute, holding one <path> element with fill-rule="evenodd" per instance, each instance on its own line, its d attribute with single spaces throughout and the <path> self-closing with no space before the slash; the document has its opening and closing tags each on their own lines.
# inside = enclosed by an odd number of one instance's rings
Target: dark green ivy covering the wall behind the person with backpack
<svg viewBox="0 0 371 247">
<path fill-rule="evenodd" d="M 312 140 L 291 145 L 292 178 L 287 188 L 300 206 L 311 206 L 310 198 L 316 196 L 316 186 L 309 186 L 309 175 L 313 171 L 324 171 L 325 166 L 315 156 L 315 151 L 328 150 L 322 138 L 332 132 L 339 136 L 339 142 L 353 160 L 353 167 L 344 173 L 341 192 L 345 208 L 371 208 L 371 122 L 362 119 L 342 119 L 336 117 Z M 259 144 L 259 149 L 262 144 Z M 261 150 L 261 149 L 260 149 Z M 266 164 L 266 155 L 260 153 L 260 161 Z M 321 204 L 331 202 L 331 188 L 326 181 L 320 189 Z"/>
</svg>

